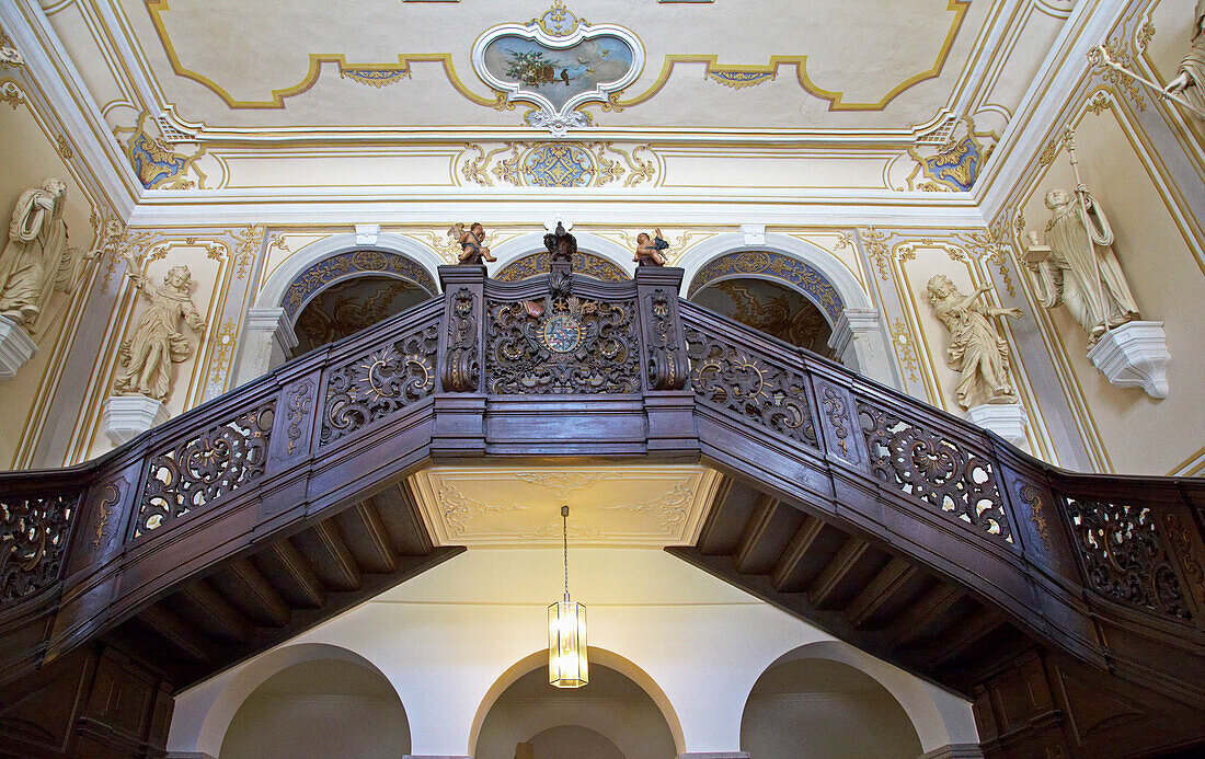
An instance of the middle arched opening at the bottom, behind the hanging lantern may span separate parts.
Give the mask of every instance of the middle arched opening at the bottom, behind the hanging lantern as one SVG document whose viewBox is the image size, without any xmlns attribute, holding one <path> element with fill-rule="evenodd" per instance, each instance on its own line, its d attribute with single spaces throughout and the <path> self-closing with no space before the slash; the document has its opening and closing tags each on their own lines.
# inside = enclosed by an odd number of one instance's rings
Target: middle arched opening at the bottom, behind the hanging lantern
<svg viewBox="0 0 1205 759">
<path fill-rule="evenodd" d="M 566 743 L 568 741 L 568 743 Z M 566 753 L 565 746 L 572 751 Z M 477 732 L 475 759 L 672 759 L 669 723 L 634 681 L 590 663 L 590 684 L 564 690 L 537 666 L 490 705 Z"/>
</svg>

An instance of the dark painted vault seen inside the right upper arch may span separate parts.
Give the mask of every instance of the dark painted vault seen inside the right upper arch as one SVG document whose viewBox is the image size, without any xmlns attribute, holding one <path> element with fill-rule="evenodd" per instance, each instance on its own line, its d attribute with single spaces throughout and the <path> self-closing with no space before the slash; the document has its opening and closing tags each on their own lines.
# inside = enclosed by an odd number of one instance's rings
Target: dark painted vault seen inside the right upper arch
<svg viewBox="0 0 1205 759">
<path fill-rule="evenodd" d="M 765 280 L 725 280 L 703 288 L 690 300 L 771 337 L 833 355 L 828 346 L 833 328 L 824 314 L 789 288 Z"/>
</svg>

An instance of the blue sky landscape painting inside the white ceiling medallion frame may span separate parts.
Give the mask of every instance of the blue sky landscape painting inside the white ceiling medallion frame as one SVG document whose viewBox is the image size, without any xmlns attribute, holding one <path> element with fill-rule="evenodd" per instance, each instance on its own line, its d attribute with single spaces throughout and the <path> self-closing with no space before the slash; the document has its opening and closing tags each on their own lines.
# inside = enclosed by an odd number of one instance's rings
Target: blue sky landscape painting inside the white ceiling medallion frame
<svg viewBox="0 0 1205 759">
<path fill-rule="evenodd" d="M 504 82 L 536 92 L 560 108 L 570 98 L 615 82 L 631 67 L 631 47 L 618 37 L 583 40 L 554 49 L 516 35 L 498 37 L 486 47 L 486 69 Z"/>
</svg>

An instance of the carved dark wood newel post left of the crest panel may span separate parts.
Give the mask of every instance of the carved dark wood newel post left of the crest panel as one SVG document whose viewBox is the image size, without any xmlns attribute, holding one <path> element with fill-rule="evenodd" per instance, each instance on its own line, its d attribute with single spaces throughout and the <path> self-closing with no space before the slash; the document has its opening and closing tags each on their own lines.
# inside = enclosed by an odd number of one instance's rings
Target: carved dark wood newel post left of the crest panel
<svg viewBox="0 0 1205 759">
<path fill-rule="evenodd" d="M 486 267 L 440 266 L 439 387 L 431 455 L 481 455 L 486 451 L 482 355 L 486 328 Z"/>
</svg>

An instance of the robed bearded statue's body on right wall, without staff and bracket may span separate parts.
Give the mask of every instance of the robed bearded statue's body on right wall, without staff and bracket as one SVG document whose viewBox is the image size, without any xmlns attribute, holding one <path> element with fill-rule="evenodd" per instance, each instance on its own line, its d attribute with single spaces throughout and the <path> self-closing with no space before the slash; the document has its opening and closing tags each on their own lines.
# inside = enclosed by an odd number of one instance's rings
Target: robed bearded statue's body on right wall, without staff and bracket
<svg viewBox="0 0 1205 759">
<path fill-rule="evenodd" d="M 1106 329 L 1139 318 L 1138 304 L 1110 247 L 1113 230 L 1104 211 L 1082 184 L 1072 198 L 1066 190 L 1046 194 L 1051 220 L 1046 245 L 1030 234 L 1025 269 L 1042 306 L 1060 304 L 1097 345 Z"/>
</svg>

